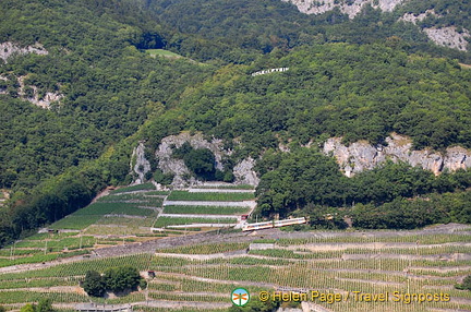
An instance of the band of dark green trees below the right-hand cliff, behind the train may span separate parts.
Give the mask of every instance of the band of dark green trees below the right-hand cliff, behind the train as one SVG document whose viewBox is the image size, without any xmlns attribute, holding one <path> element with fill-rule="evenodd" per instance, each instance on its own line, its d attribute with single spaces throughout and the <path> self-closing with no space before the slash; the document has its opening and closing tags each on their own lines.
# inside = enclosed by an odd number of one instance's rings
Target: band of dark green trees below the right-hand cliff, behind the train
<svg viewBox="0 0 471 312">
<path fill-rule="evenodd" d="M 317 228 L 416 228 L 471 223 L 471 172 L 435 177 L 403 163 L 385 163 L 347 178 L 335 159 L 315 148 L 267 152 L 258 161 L 257 213 L 265 217 L 311 216 Z"/>
</svg>

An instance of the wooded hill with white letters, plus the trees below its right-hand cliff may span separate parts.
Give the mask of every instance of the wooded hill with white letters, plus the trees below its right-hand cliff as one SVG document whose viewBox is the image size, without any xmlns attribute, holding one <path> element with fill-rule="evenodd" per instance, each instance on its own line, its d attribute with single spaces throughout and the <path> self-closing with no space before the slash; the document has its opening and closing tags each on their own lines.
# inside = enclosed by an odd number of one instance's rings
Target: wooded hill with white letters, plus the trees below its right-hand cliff
<svg viewBox="0 0 471 312">
<path fill-rule="evenodd" d="M 289 70 L 251 75 L 277 67 Z M 233 161 L 262 153 L 258 213 L 266 217 L 312 214 L 314 226 L 327 227 L 345 227 L 345 215 L 371 228 L 469 223 L 469 193 L 461 193 L 471 187 L 467 171 L 435 178 L 421 168 L 386 164 L 349 179 L 321 149 L 331 136 L 385 144 L 391 132 L 409 135 L 415 148 L 470 148 L 470 82 L 471 71 L 456 61 L 387 45 L 274 51 L 250 67 L 219 70 L 178 108 L 147 123 L 142 139 L 156 148 L 157 133 L 192 130 L 224 139 L 235 149 Z M 231 145 L 234 140 L 242 145 Z M 280 145 L 291 152 L 280 152 Z M 338 219 L 326 223 L 327 212 Z"/>
</svg>

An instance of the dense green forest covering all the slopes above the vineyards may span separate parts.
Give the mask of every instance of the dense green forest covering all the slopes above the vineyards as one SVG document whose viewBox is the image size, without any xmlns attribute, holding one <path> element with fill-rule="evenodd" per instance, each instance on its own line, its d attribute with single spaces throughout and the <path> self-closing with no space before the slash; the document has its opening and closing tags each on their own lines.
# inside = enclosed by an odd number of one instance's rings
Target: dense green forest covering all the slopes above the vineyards
<svg viewBox="0 0 471 312">
<path fill-rule="evenodd" d="M 180 131 L 222 139 L 234 151 L 227 159 L 232 166 L 247 155 L 261 158 L 257 193 L 266 217 L 309 212 L 323 224 L 329 209 L 366 218 L 411 205 L 436 211 L 452 202 L 423 223 L 353 219 L 359 227 L 469 221 L 462 208 L 469 203 L 467 172 L 434 178 L 387 165 L 349 180 L 316 148 L 329 136 L 384 143 L 392 131 L 412 137 L 415 148 L 471 147 L 471 71 L 459 65 L 470 53 L 439 48 L 420 32 L 432 24 L 471 28 L 462 13 L 468 7 L 458 2 L 412 1 L 391 13 L 366 7 L 348 20 L 339 11 L 304 15 L 278 0 L 1 1 L 0 43 L 38 43 L 49 53 L 0 61 L 0 189 L 12 195 L 0 207 L 0 245 L 83 207 L 107 185 L 131 182 L 137 141 L 144 140 L 152 155 L 162 137 Z M 420 27 L 397 23 L 406 12 L 431 8 L 446 19 L 426 19 Z M 161 48 L 183 58 L 146 53 Z M 251 76 L 279 67 L 289 71 Z M 21 95 L 21 84 L 26 96 L 35 86 L 39 98 L 48 92 L 63 98 L 50 109 L 38 108 Z M 299 149 L 309 142 L 311 151 Z M 292 153 L 275 152 L 279 143 Z M 191 153 L 206 159 L 203 165 L 213 159 L 198 149 Z M 180 156 L 192 164 L 189 155 Z M 326 171 L 311 172 L 307 164 L 295 168 L 299 183 L 286 181 L 283 172 L 298 157 Z M 198 166 L 192 169 L 196 176 L 233 179 L 230 170 L 208 165 L 198 171 Z M 156 166 L 153 171 L 168 182 Z M 371 175 L 385 172 L 421 177 L 423 184 L 401 182 L 406 191 L 389 193 L 383 188 L 397 181 L 360 188 L 374 179 Z M 326 179 L 330 182 L 318 191 Z M 321 184 L 291 189 L 316 181 Z"/>
</svg>

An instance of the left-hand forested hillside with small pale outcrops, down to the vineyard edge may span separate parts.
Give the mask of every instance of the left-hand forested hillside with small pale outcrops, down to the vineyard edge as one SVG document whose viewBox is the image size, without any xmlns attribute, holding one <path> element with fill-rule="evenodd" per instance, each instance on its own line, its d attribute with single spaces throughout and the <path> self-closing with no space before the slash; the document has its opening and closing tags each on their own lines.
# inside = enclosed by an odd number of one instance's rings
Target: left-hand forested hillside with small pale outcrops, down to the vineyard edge
<svg viewBox="0 0 471 312">
<path fill-rule="evenodd" d="M 162 31 L 135 1 L 2 1 L 0 20 L 1 43 L 48 51 L 0 60 L 2 241 L 131 182 L 132 135 L 214 68 L 142 50 L 161 48 Z M 63 97 L 39 108 L 34 89 Z"/>
</svg>

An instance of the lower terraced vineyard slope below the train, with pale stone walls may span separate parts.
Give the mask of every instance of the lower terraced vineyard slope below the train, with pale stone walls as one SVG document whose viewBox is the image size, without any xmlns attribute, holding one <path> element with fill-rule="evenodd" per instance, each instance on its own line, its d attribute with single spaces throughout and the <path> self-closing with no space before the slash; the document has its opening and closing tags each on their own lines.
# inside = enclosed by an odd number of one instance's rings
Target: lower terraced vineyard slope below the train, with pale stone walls
<svg viewBox="0 0 471 312">
<path fill-rule="evenodd" d="M 155 272 L 148 288 L 125 297 L 94 298 L 94 302 L 132 303 L 136 311 L 224 311 L 231 305 L 231 290 L 244 287 L 255 297 L 276 290 L 315 290 L 340 293 L 343 299 L 350 293 L 349 299 L 335 303 L 318 299 L 305 303 L 327 311 L 469 310 L 471 292 L 457 290 L 454 285 L 471 274 L 471 231 L 424 232 L 420 235 L 423 242 L 418 242 L 413 231 L 337 232 L 335 237 L 328 232 L 287 233 L 303 238 L 285 239 L 279 237 L 283 232 L 274 230 L 264 239 L 252 236 L 252 242 L 238 242 L 238 236 L 227 242 L 159 248 L 155 254 L 84 259 L 0 274 L 0 300 L 15 308 L 45 293 L 62 309 L 73 308 L 75 302 L 90 300 L 78 287 L 86 271 L 129 264 L 143 273 Z M 31 242 L 41 237 L 33 237 Z M 63 239 L 73 237 L 65 235 Z M 353 291 L 388 293 L 389 300 L 355 301 Z M 446 293 L 449 300 L 396 302 L 392 299 L 406 297 L 394 297 L 395 291 L 397 296 Z"/>
</svg>

